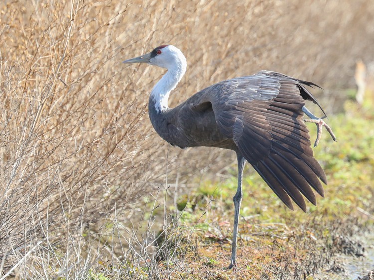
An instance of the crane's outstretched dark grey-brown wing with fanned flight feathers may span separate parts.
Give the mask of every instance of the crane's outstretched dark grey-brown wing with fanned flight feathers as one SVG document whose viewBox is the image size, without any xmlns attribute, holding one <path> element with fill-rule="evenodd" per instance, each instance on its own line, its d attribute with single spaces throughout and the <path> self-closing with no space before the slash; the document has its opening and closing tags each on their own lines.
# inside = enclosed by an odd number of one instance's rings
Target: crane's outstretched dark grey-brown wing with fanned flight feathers
<svg viewBox="0 0 374 280">
<path fill-rule="evenodd" d="M 313 157 L 301 111 L 302 94 L 311 83 L 279 73 L 261 71 L 205 90 L 221 132 L 234 140 L 244 158 L 291 209 L 290 197 L 306 211 L 303 194 L 316 204 L 326 175 Z"/>
</svg>

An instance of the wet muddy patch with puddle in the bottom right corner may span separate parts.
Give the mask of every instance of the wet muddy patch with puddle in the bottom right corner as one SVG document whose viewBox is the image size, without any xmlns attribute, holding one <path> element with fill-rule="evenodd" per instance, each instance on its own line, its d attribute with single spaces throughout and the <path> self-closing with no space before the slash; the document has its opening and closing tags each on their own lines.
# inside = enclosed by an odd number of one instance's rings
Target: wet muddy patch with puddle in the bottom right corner
<svg viewBox="0 0 374 280">
<path fill-rule="evenodd" d="M 333 224 L 313 223 L 311 228 L 325 229 L 329 234 L 317 235 L 319 238 L 315 240 L 298 239 L 299 256 L 286 252 L 281 265 L 270 265 L 262 279 L 277 276 L 280 280 L 368 280 L 372 277 L 368 273 L 374 268 L 373 225 L 347 219 Z M 300 252 L 306 254 L 301 256 Z"/>
</svg>

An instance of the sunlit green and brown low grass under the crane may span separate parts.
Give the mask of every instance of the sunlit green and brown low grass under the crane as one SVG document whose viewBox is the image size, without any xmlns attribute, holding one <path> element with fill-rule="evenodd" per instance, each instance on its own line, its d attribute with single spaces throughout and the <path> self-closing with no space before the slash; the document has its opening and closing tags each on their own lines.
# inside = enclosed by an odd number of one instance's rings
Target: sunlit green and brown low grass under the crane
<svg viewBox="0 0 374 280">
<path fill-rule="evenodd" d="M 328 119 L 338 142 L 326 131 L 314 155 L 323 166 L 328 185 L 317 206 L 308 203 L 307 214 L 290 211 L 250 166 L 245 170 L 244 197 L 239 224 L 238 264 L 230 258 L 233 225 L 232 196 L 236 191 L 236 166 L 223 182 L 205 181 L 177 200 L 184 211 L 178 221 L 186 231 L 179 246 L 185 248 L 183 264 L 174 261 L 171 279 L 287 279 L 287 273 L 319 272 L 330 256 L 339 252 L 339 237 L 350 237 L 373 225 L 362 210 L 373 213 L 374 126 L 371 110 L 360 110 L 350 101 L 346 112 Z M 314 125 L 308 125 L 311 140 Z M 192 198 L 192 199 L 191 199 Z M 190 232 L 192 238 L 187 237 Z M 182 250 L 183 251 L 183 250 Z M 159 268 L 166 267 L 165 261 Z M 162 275 L 162 274 L 161 274 Z"/>
</svg>

